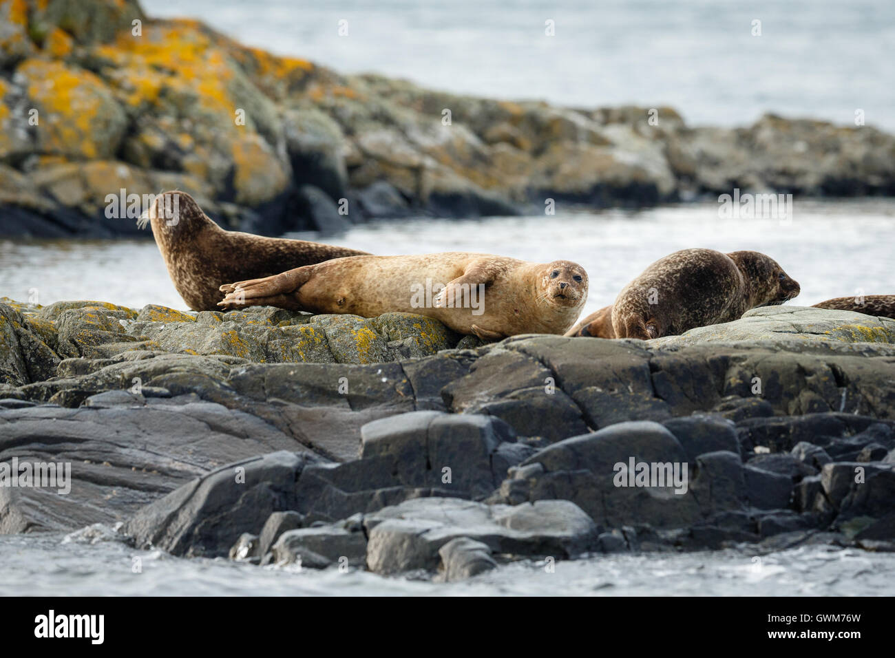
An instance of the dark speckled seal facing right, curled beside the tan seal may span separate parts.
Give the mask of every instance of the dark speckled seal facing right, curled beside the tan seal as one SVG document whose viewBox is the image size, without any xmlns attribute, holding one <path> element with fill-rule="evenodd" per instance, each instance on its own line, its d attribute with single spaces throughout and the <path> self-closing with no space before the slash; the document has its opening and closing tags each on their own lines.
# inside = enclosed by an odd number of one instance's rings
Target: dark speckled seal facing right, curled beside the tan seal
<svg viewBox="0 0 895 658">
<path fill-rule="evenodd" d="M 674 336 L 798 293 L 798 283 L 763 253 L 685 249 L 655 261 L 622 289 L 612 329 L 618 338 Z"/>
</svg>

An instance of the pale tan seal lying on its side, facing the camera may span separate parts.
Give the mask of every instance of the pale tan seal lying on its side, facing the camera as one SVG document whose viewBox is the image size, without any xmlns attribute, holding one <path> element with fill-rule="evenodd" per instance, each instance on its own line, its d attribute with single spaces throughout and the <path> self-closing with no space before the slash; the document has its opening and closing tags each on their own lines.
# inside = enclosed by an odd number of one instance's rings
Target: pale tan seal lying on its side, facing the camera
<svg viewBox="0 0 895 658">
<path fill-rule="evenodd" d="M 574 262 L 531 263 L 487 253 L 353 256 L 221 290 L 225 308 L 245 303 L 366 318 L 419 313 L 458 333 L 498 340 L 566 331 L 587 298 L 587 273 Z"/>
</svg>

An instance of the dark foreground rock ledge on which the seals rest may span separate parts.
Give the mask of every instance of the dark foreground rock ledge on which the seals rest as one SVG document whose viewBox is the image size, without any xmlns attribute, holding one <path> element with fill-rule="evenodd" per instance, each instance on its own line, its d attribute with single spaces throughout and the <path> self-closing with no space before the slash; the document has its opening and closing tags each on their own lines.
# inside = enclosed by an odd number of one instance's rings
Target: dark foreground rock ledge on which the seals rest
<svg viewBox="0 0 895 658">
<path fill-rule="evenodd" d="M 71 469 L 67 492 L 0 487 L 4 533 L 121 521 L 177 555 L 443 580 L 895 543 L 891 320 L 783 306 L 653 341 L 473 348 L 407 315 L 9 302 L 0 320 L 0 479 Z"/>
</svg>

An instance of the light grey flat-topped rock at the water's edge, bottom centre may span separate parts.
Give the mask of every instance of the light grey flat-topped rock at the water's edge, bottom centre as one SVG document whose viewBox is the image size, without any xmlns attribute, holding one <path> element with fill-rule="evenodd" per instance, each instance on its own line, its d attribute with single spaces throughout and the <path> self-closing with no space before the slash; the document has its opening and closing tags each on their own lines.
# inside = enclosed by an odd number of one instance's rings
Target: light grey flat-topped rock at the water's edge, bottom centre
<svg viewBox="0 0 895 658">
<path fill-rule="evenodd" d="M 484 505 L 469 500 L 407 500 L 366 517 L 367 568 L 388 575 L 435 570 L 439 550 L 454 539 L 486 544 L 494 553 L 573 557 L 596 539 L 590 518 L 567 500 L 533 505 Z M 449 552 L 449 551 L 448 551 Z"/>
</svg>

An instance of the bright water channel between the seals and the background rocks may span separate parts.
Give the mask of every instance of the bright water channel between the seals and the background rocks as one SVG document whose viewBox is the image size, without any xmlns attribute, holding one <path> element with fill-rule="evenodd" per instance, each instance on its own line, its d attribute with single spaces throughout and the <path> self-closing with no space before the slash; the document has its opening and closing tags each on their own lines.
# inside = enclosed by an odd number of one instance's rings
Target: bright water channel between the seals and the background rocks
<svg viewBox="0 0 895 658">
<path fill-rule="evenodd" d="M 612 303 L 652 261 L 706 247 L 769 254 L 802 286 L 792 304 L 831 297 L 891 294 L 895 200 L 795 201 L 791 223 L 722 219 L 717 203 L 639 211 L 564 211 L 553 216 L 468 220 L 405 219 L 354 226 L 320 238 L 379 254 L 484 252 L 527 261 L 584 266 L 590 292 L 584 313 Z M 152 241 L 0 240 L 0 297 L 47 304 L 90 299 L 132 308 L 158 303 L 186 310 Z"/>
</svg>

